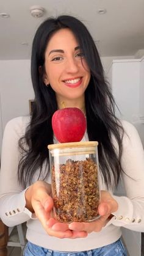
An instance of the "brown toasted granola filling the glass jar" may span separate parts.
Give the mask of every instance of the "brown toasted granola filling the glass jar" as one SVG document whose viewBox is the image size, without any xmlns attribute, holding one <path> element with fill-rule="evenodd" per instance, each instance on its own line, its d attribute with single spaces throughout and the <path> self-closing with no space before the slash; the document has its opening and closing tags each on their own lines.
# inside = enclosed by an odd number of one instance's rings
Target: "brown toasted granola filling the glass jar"
<svg viewBox="0 0 144 256">
<path fill-rule="evenodd" d="M 60 222 L 88 222 L 98 217 L 98 167 L 93 159 L 68 159 L 52 166 L 54 216 Z"/>
</svg>

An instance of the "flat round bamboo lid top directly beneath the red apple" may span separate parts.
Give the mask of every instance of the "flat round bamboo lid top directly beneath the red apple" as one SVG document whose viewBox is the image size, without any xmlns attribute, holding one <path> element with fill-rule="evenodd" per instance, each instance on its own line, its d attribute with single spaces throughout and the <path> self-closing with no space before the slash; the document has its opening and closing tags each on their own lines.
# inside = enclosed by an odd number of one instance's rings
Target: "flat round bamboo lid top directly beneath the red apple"
<svg viewBox="0 0 144 256">
<path fill-rule="evenodd" d="M 74 148 L 74 147 L 97 147 L 97 141 L 80 141 L 80 142 L 68 142 L 68 143 L 59 143 L 59 144 L 50 144 L 48 149 L 52 150 L 55 148 Z"/>
</svg>

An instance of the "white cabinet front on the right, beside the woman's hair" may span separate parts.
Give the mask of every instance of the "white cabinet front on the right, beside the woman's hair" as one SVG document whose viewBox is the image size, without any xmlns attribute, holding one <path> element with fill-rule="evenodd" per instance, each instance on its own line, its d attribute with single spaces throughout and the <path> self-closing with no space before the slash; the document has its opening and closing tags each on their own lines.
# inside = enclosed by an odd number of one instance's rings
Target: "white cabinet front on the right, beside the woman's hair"
<svg viewBox="0 0 144 256">
<path fill-rule="evenodd" d="M 140 61 L 113 60 L 112 93 L 120 109 L 118 117 L 135 122 L 139 119 Z"/>
</svg>

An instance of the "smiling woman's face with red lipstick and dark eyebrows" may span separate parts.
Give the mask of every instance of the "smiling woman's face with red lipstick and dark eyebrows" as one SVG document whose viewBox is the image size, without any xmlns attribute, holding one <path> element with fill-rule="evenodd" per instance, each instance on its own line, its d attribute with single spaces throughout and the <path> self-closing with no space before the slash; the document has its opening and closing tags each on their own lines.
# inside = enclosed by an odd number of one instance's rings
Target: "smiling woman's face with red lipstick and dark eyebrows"
<svg viewBox="0 0 144 256">
<path fill-rule="evenodd" d="M 70 29 L 60 29 L 49 40 L 45 52 L 45 79 L 57 99 L 67 101 L 84 97 L 90 70 Z"/>
</svg>

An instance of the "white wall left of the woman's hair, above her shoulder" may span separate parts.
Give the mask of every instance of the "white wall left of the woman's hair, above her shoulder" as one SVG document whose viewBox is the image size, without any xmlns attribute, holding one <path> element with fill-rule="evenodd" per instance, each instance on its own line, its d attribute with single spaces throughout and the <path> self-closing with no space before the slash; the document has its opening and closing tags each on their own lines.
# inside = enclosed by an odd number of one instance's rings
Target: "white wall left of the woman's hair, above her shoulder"
<svg viewBox="0 0 144 256">
<path fill-rule="evenodd" d="M 34 98 L 30 60 L 0 61 L 2 131 L 13 117 L 29 114 L 29 100 Z"/>
</svg>

